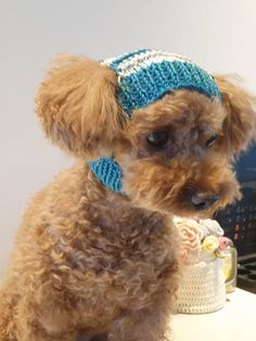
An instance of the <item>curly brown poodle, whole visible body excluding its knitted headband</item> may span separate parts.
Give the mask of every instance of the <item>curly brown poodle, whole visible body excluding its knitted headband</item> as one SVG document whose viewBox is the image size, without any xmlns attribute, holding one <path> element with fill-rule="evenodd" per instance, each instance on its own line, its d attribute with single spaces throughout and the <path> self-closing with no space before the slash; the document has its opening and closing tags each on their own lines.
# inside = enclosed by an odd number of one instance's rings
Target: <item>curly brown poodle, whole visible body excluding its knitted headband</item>
<svg viewBox="0 0 256 341">
<path fill-rule="evenodd" d="M 113 68 L 57 60 L 37 113 L 77 163 L 24 216 L 0 290 L 1 341 L 166 340 L 179 280 L 172 215 L 210 216 L 240 198 L 232 161 L 255 137 L 252 97 L 225 77 L 212 81 L 221 100 L 182 86 L 131 119 Z M 89 166 L 107 155 L 121 192 Z"/>
</svg>

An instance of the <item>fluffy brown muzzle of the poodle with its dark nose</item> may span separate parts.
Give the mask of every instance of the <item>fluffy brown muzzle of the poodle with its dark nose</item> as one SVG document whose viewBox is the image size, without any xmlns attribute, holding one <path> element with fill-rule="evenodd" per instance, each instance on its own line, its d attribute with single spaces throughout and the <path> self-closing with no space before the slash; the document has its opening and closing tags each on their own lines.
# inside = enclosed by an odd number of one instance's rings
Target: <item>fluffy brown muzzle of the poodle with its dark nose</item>
<svg viewBox="0 0 256 341">
<path fill-rule="evenodd" d="M 137 163 L 125 178 L 125 190 L 137 205 L 180 216 L 209 217 L 241 199 L 228 165 L 172 163 L 171 167 Z"/>
</svg>

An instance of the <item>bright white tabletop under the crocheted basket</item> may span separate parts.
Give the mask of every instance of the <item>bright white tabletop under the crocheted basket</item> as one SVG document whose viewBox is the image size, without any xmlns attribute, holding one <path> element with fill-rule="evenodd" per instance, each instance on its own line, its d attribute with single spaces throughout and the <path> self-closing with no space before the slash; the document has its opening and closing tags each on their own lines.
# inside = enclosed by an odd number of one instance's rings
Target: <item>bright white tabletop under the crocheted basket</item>
<svg viewBox="0 0 256 341">
<path fill-rule="evenodd" d="M 256 341 L 256 294 L 235 289 L 216 313 L 175 315 L 172 341 Z"/>
</svg>

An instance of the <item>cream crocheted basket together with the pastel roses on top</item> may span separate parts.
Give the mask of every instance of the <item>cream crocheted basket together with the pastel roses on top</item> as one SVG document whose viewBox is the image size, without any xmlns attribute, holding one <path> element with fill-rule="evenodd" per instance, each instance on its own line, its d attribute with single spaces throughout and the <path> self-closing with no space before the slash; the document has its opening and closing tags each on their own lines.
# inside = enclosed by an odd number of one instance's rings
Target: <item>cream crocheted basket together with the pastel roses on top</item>
<svg viewBox="0 0 256 341">
<path fill-rule="evenodd" d="M 203 314 L 226 303 L 223 230 L 213 219 L 174 219 L 187 250 L 177 291 L 177 313 Z M 193 247 L 193 248 L 192 248 Z M 183 256 L 183 253 L 181 253 Z"/>
</svg>

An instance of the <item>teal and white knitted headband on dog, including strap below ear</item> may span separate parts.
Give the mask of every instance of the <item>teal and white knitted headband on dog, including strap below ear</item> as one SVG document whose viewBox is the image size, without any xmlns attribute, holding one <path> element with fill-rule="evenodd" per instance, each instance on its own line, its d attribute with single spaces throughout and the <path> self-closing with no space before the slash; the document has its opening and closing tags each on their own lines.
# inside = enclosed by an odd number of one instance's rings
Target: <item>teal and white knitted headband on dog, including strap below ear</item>
<svg viewBox="0 0 256 341">
<path fill-rule="evenodd" d="M 181 55 L 144 49 L 101 63 L 117 74 L 117 100 L 129 118 L 133 110 L 178 89 L 194 90 L 221 102 L 214 77 Z M 103 185 L 121 192 L 121 168 L 112 157 L 92 161 L 89 166 Z"/>
</svg>

